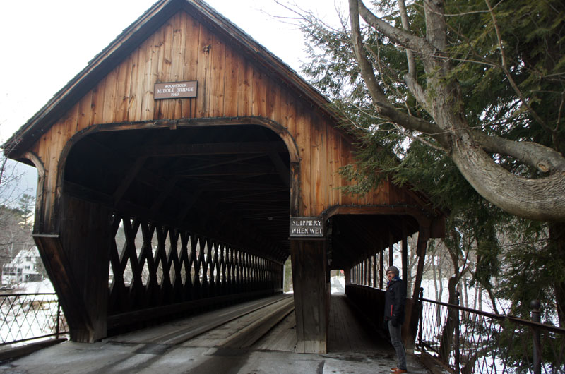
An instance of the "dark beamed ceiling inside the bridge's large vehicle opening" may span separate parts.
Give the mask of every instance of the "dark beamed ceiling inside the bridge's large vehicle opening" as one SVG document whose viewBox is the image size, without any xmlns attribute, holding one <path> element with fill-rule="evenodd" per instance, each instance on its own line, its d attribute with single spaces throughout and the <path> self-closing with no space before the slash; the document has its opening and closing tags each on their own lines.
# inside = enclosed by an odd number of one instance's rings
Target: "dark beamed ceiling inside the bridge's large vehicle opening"
<svg viewBox="0 0 565 374">
<path fill-rule="evenodd" d="M 262 126 L 102 131 L 71 147 L 69 195 L 283 262 L 290 158 Z"/>
</svg>

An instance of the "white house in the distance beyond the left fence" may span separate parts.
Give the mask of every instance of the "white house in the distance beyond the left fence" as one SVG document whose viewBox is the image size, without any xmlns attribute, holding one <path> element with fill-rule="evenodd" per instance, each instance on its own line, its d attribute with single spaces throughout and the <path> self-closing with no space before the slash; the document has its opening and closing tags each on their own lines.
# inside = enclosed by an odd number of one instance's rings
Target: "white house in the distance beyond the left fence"
<svg viewBox="0 0 565 374">
<path fill-rule="evenodd" d="M 10 263 L 2 267 L 2 284 L 41 282 L 42 272 L 38 268 L 40 253 L 37 247 L 20 251 Z"/>
</svg>

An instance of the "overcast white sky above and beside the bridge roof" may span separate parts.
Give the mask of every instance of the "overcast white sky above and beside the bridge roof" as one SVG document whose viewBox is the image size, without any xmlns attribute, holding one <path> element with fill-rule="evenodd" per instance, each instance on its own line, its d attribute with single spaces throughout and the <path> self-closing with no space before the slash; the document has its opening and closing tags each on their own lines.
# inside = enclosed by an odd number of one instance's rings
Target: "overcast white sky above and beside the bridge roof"
<svg viewBox="0 0 565 374">
<path fill-rule="evenodd" d="M 280 0 L 324 19 L 347 0 Z M 304 39 L 295 25 L 269 16 L 291 16 L 274 0 L 208 0 L 295 71 L 304 61 Z M 88 61 L 155 0 L 5 0 L 0 3 L 0 143 L 4 143 Z M 344 5 L 345 4 L 345 5 Z M 34 89 L 30 90 L 30 86 Z M 35 169 L 24 182 L 35 187 Z"/>
</svg>

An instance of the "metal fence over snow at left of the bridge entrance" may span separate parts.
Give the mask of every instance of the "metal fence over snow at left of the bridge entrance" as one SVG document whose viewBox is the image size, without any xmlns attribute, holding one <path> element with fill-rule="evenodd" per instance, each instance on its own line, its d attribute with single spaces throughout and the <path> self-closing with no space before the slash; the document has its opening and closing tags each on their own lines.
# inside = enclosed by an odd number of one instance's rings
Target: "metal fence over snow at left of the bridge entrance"
<svg viewBox="0 0 565 374">
<path fill-rule="evenodd" d="M 0 345 L 68 331 L 57 294 L 0 294 Z"/>
</svg>

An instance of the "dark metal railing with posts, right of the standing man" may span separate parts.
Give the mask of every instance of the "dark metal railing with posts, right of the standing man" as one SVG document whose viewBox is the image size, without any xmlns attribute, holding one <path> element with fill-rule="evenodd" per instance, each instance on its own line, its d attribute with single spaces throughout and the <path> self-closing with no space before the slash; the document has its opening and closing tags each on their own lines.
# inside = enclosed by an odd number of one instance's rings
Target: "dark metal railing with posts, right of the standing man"
<svg viewBox="0 0 565 374">
<path fill-rule="evenodd" d="M 565 329 L 540 323 L 539 303 L 523 320 L 420 301 L 417 349 L 453 373 L 565 373 Z"/>
</svg>

